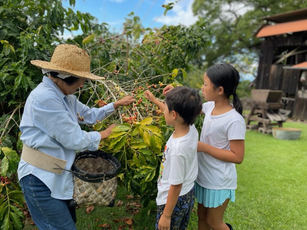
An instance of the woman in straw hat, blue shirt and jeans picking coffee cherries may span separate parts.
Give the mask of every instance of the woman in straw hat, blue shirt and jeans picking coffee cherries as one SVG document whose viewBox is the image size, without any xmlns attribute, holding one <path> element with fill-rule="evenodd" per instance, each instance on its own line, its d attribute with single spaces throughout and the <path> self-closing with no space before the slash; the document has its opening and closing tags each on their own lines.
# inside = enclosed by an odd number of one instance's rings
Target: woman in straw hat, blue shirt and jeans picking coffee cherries
<svg viewBox="0 0 307 230">
<path fill-rule="evenodd" d="M 47 76 L 30 93 L 22 115 L 20 130 L 24 148 L 18 166 L 18 178 L 30 214 L 39 229 L 76 229 L 76 213 L 68 207 L 73 196 L 70 170 L 76 151 L 97 150 L 100 140 L 111 134 L 114 125 L 101 132 L 86 132 L 78 124 L 83 117 L 95 124 L 120 105 L 129 105 L 127 96 L 102 108 L 89 108 L 72 95 L 91 74 L 86 51 L 74 45 L 58 45 L 50 62 L 31 61 Z"/>
</svg>

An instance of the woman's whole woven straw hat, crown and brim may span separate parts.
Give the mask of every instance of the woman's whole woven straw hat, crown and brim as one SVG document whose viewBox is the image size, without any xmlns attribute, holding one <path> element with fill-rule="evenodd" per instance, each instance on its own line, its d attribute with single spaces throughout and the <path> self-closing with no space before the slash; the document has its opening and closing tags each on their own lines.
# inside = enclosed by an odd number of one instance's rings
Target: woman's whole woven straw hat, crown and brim
<svg viewBox="0 0 307 230">
<path fill-rule="evenodd" d="M 64 75 L 91 80 L 105 79 L 91 74 L 91 60 L 87 52 L 75 45 L 58 45 L 53 52 L 50 62 L 34 60 L 31 63 L 42 69 L 47 69 Z"/>
</svg>

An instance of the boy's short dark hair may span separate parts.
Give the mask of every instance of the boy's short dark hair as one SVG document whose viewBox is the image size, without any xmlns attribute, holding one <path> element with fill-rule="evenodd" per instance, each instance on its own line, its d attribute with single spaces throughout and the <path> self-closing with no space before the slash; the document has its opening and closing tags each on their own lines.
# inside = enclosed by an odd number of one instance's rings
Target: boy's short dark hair
<svg viewBox="0 0 307 230">
<path fill-rule="evenodd" d="M 201 112 L 203 102 L 199 90 L 177 86 L 166 94 L 165 103 L 169 112 L 176 111 L 187 125 L 193 125 Z"/>
</svg>

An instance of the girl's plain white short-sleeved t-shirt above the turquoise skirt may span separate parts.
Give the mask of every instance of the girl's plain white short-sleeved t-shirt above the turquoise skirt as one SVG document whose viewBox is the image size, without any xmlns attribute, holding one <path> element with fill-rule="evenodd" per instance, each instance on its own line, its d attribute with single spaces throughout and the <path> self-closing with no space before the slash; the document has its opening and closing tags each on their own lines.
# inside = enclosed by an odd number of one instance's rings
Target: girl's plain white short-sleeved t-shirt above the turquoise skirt
<svg viewBox="0 0 307 230">
<path fill-rule="evenodd" d="M 230 140 L 245 140 L 246 126 L 243 117 L 235 110 L 212 116 L 214 102 L 203 104 L 205 114 L 200 141 L 216 148 L 230 150 Z M 236 189 L 237 171 L 234 163 L 218 160 L 207 153 L 198 152 L 196 182 L 207 189 Z"/>
</svg>

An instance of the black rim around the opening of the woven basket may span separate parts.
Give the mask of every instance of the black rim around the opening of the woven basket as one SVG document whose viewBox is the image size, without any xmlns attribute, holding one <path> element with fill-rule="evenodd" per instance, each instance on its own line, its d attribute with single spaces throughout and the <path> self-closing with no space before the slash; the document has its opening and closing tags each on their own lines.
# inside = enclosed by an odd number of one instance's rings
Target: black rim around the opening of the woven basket
<svg viewBox="0 0 307 230">
<path fill-rule="evenodd" d="M 98 158 L 101 157 L 103 159 L 108 160 L 112 166 L 114 167 L 113 170 L 103 172 L 103 173 L 89 173 L 86 172 L 79 167 L 76 166 L 76 162 L 80 159 L 84 158 Z M 78 152 L 76 154 L 76 158 L 74 163 L 72 164 L 72 171 L 76 175 L 76 177 L 80 178 L 83 181 L 86 182 L 92 182 L 92 183 L 97 183 L 97 182 L 103 182 L 106 180 L 109 180 L 113 177 L 115 177 L 119 169 L 121 167 L 121 163 L 119 162 L 118 159 L 116 159 L 114 156 L 111 154 L 105 153 L 103 151 L 97 150 L 97 151 L 83 151 L 83 152 Z"/>
</svg>

